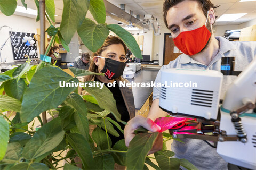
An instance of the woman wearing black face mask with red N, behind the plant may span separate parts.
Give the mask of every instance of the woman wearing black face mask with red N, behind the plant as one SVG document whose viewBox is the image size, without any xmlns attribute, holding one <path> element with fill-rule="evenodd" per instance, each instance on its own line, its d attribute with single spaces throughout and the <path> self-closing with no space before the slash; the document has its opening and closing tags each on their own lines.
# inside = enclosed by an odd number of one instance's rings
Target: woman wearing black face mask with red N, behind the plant
<svg viewBox="0 0 256 170">
<path fill-rule="evenodd" d="M 125 68 L 125 56 L 127 47 L 123 41 L 115 36 L 109 36 L 103 43 L 103 45 L 93 54 L 93 62 L 89 67 L 89 71 L 97 73 L 105 73 L 105 75 L 89 75 L 85 78 L 85 81 L 99 81 L 105 83 L 105 86 L 112 92 L 115 100 L 118 112 L 121 114 L 121 120 L 128 122 L 135 116 L 134 99 L 132 95 L 132 88 L 119 87 L 119 82 L 129 82 L 122 78 Z M 116 83 L 114 83 L 116 81 Z M 108 87 L 107 83 L 115 84 L 115 87 Z M 83 91 L 83 94 L 85 91 Z M 116 121 L 112 114 L 108 115 L 110 118 Z M 124 124 L 119 123 L 122 129 Z M 115 125 L 114 125 L 115 127 Z M 117 128 L 119 137 L 111 136 L 112 145 L 117 141 L 124 139 L 124 135 Z"/>
</svg>

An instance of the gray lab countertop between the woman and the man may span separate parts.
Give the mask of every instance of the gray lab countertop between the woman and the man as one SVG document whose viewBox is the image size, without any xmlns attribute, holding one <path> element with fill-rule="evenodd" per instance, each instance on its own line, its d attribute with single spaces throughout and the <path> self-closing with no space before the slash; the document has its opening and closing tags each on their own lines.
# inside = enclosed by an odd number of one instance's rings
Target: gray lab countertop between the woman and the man
<svg viewBox="0 0 256 170">
<path fill-rule="evenodd" d="M 135 72 L 133 79 L 127 79 L 130 82 L 150 82 L 155 81 L 156 75 L 159 69 L 145 69 Z M 153 87 L 132 87 L 132 93 L 134 97 L 135 109 L 140 110 L 143 104 L 146 102 L 151 92 L 153 92 Z"/>
</svg>

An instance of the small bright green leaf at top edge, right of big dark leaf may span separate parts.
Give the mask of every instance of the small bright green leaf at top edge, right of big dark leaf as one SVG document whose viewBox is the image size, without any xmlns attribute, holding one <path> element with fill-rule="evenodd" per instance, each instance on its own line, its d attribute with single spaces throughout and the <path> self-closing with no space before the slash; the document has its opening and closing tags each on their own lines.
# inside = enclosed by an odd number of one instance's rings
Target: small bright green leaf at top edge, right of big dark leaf
<svg viewBox="0 0 256 170">
<path fill-rule="evenodd" d="M 105 23 L 106 8 L 103 0 L 90 0 L 89 10 L 98 23 Z"/>
</svg>

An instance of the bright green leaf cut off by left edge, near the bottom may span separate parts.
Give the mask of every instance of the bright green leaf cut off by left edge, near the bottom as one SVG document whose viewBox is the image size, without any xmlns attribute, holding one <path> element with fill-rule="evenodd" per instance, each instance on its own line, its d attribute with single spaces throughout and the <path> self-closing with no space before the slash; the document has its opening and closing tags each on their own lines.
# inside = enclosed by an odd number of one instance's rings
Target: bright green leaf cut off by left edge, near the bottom
<svg viewBox="0 0 256 170">
<path fill-rule="evenodd" d="M 4 158 L 9 140 L 9 123 L 0 116 L 0 160 Z"/>
</svg>

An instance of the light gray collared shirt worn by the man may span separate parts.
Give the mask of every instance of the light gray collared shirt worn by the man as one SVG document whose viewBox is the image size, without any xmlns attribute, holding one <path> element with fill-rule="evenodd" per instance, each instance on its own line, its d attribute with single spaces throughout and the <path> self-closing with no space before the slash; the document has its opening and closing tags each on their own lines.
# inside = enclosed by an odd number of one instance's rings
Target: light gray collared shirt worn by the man
<svg viewBox="0 0 256 170">
<path fill-rule="evenodd" d="M 215 37 L 220 42 L 220 49 L 210 64 L 199 63 L 186 54 L 181 54 L 177 59 L 169 64 L 162 66 L 158 72 L 155 82 L 161 82 L 161 72 L 170 68 L 186 69 L 210 69 L 220 71 L 221 57 L 236 57 L 235 71 L 243 71 L 245 67 L 256 56 L 256 42 L 228 41 L 223 37 Z M 224 76 L 221 87 L 221 99 L 225 95 L 230 83 L 236 76 Z M 160 88 L 154 87 L 153 100 L 159 98 Z M 185 144 L 173 141 L 172 151 L 177 158 L 188 159 L 198 169 L 227 169 L 227 162 L 223 160 L 216 152 L 216 149 L 208 146 L 204 141 L 197 139 L 182 139 Z"/>
</svg>

